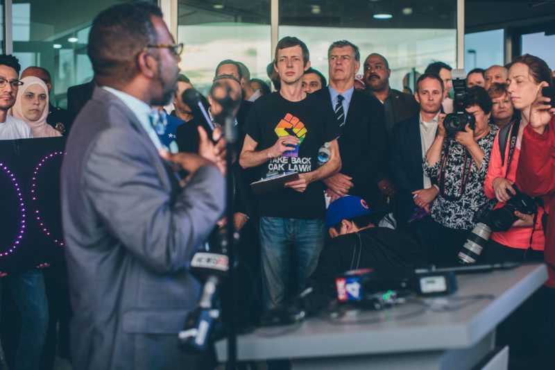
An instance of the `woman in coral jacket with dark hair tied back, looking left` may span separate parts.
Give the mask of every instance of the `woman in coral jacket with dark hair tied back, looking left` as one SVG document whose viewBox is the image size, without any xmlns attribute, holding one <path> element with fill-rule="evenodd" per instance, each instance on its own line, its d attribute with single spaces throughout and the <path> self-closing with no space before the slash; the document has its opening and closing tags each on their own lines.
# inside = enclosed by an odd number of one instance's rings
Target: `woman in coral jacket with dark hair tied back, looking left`
<svg viewBox="0 0 555 370">
<path fill-rule="evenodd" d="M 508 127 L 499 130 L 493 143 L 484 191 L 488 198 L 497 199 L 495 208 L 504 207 L 505 202 L 515 194 L 514 183 L 520 168 L 522 135 L 529 126 L 531 106 L 538 91 L 544 84 L 552 83 L 551 70 L 540 58 L 524 55 L 511 63 L 507 81 L 507 91 L 515 110 L 520 112 L 520 117 L 514 119 Z M 503 142 L 503 146 L 500 145 L 500 141 Z M 501 153 L 501 147 L 504 153 Z M 525 190 L 523 193 L 528 194 Z M 542 261 L 545 235 L 541 220 L 544 212 L 543 207 L 538 207 L 536 215 L 515 212 L 518 219 L 509 230 L 491 235 L 483 258 L 488 262 Z"/>
</svg>

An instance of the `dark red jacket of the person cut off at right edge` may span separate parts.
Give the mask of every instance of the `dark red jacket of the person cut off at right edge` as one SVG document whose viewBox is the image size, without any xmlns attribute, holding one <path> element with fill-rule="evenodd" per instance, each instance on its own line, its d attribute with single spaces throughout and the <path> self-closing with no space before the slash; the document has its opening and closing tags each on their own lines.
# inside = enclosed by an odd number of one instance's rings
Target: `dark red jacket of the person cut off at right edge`
<svg viewBox="0 0 555 370">
<path fill-rule="evenodd" d="M 517 169 L 517 185 L 531 196 L 543 196 L 551 215 L 545 230 L 545 262 L 549 280 L 546 285 L 555 287 L 555 117 L 547 125 L 543 135 L 524 128 L 520 161 Z"/>
</svg>

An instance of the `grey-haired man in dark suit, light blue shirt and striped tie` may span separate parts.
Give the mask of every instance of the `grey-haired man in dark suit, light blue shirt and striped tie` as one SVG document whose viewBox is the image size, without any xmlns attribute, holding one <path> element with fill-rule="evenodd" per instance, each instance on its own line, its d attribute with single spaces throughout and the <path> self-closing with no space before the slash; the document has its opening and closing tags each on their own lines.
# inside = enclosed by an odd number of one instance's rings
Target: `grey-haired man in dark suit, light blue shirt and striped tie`
<svg viewBox="0 0 555 370">
<path fill-rule="evenodd" d="M 386 131 L 384 107 L 376 99 L 355 90 L 360 67 L 359 48 L 334 42 L 328 49 L 330 85 L 313 92 L 329 101 L 341 126 L 339 153 L 341 172 L 324 180 L 332 201 L 345 194 L 361 196 L 375 205 L 388 189 L 384 177 Z M 341 97 L 339 97 L 341 96 Z"/>
</svg>

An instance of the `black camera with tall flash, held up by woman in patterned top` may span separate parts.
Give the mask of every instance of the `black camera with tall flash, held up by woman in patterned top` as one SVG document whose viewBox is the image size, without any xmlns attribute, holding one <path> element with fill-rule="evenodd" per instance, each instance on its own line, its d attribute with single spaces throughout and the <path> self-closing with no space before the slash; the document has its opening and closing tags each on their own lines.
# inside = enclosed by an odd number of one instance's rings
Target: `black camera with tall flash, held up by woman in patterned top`
<svg viewBox="0 0 555 370">
<path fill-rule="evenodd" d="M 453 102 L 453 112 L 445 116 L 443 126 L 447 135 L 454 136 L 459 131 L 465 131 L 468 124 L 472 131 L 476 128 L 474 115 L 466 112 L 466 72 L 464 69 L 453 69 L 451 72 L 455 99 Z"/>
</svg>

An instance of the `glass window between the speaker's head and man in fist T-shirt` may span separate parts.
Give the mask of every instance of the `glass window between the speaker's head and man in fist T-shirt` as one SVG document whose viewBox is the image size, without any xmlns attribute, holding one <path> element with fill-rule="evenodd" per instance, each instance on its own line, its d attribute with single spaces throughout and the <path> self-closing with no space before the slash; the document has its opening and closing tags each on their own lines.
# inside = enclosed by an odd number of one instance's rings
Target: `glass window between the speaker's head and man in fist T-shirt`
<svg viewBox="0 0 555 370">
<path fill-rule="evenodd" d="M 252 78 L 266 76 L 271 61 L 270 0 L 180 0 L 180 69 L 206 94 L 221 60 L 243 62 Z"/>
</svg>

